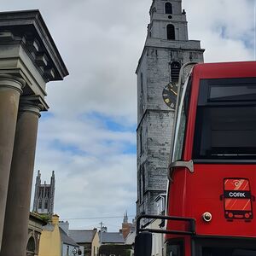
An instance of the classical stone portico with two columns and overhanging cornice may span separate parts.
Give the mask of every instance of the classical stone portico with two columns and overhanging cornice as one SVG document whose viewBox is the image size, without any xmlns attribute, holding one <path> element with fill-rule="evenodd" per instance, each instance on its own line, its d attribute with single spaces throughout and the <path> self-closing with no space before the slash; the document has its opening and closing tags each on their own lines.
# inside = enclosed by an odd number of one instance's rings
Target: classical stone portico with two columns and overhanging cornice
<svg viewBox="0 0 256 256">
<path fill-rule="evenodd" d="M 38 10 L 0 13 L 0 255 L 26 255 L 38 119 L 67 67 Z"/>
</svg>

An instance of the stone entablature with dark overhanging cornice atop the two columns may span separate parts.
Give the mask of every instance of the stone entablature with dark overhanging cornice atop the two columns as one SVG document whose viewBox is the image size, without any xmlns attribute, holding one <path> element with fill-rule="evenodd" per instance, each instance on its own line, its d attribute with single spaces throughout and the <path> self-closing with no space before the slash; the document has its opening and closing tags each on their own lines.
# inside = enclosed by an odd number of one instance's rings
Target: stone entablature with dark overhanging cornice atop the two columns
<svg viewBox="0 0 256 256">
<path fill-rule="evenodd" d="M 67 67 L 38 10 L 0 13 L 0 73 L 26 81 L 23 95 L 46 96 L 45 84 Z"/>
</svg>

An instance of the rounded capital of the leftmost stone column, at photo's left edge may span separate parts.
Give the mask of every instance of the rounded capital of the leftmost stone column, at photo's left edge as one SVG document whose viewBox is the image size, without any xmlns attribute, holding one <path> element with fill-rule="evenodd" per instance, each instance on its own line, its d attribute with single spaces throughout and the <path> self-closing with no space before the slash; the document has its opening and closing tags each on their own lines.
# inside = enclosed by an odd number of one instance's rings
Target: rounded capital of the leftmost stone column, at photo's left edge
<svg viewBox="0 0 256 256">
<path fill-rule="evenodd" d="M 17 76 L 9 75 L 9 74 L 0 74 L 0 88 L 12 88 L 18 90 L 20 94 L 22 94 L 22 89 L 25 87 L 26 82 L 24 79 L 20 79 Z"/>
</svg>

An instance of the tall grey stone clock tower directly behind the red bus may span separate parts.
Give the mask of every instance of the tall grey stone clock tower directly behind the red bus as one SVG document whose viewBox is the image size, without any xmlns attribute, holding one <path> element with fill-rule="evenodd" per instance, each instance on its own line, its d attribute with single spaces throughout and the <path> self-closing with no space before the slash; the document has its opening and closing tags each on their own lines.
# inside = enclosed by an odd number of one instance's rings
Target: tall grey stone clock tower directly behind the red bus
<svg viewBox="0 0 256 256">
<path fill-rule="evenodd" d="M 137 66 L 137 215 L 155 214 L 166 193 L 175 93 L 180 67 L 203 61 L 200 41 L 188 39 L 181 0 L 153 0 L 148 36 Z"/>
</svg>

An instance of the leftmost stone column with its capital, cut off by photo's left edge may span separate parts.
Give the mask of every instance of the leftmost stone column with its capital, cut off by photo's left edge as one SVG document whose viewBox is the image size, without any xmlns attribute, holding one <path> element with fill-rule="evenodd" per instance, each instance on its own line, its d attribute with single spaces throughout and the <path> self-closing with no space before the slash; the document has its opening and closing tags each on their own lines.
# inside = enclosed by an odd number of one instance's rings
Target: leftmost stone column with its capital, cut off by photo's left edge
<svg viewBox="0 0 256 256">
<path fill-rule="evenodd" d="M 0 75 L 0 249 L 18 106 L 24 84 L 19 78 Z"/>
</svg>

